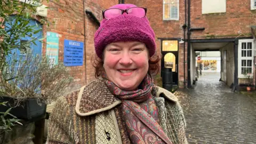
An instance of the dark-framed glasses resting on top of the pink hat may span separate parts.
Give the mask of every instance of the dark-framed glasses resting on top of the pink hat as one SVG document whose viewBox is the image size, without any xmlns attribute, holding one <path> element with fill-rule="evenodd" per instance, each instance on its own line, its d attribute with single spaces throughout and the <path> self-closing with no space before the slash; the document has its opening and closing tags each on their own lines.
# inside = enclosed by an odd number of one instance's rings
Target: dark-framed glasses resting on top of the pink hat
<svg viewBox="0 0 256 144">
<path fill-rule="evenodd" d="M 146 16 L 147 8 L 145 7 L 130 7 L 129 9 L 118 9 L 118 8 L 111 8 L 105 11 L 102 11 L 103 19 L 111 19 L 122 15 L 123 13 L 127 13 L 130 15 L 134 15 L 135 17 L 143 18 Z"/>
</svg>

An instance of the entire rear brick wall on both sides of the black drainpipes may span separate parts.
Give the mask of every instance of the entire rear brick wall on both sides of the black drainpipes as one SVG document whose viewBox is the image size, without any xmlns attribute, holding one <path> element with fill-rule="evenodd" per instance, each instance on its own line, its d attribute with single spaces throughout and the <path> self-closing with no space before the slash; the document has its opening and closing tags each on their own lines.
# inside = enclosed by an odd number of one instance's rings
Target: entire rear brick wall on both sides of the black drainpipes
<svg viewBox="0 0 256 144">
<path fill-rule="evenodd" d="M 185 23 L 185 2 L 179 1 L 179 20 L 163 20 L 163 0 L 125 0 L 125 3 L 147 7 L 147 17 L 157 38 L 183 38 L 182 25 Z M 191 0 L 191 27 L 204 27 L 203 31 L 193 31 L 191 39 L 235 38 L 252 36 L 250 26 L 256 25 L 256 10 L 250 10 L 250 1 L 227 0 L 226 13 L 202 14 L 202 0 Z M 186 32 L 187 36 L 187 32 Z M 161 51 L 161 42 L 157 49 Z M 186 43 L 187 61 L 187 43 Z M 183 44 L 179 44 L 179 84 L 182 86 Z M 185 64 L 187 80 L 187 62 Z"/>
</svg>

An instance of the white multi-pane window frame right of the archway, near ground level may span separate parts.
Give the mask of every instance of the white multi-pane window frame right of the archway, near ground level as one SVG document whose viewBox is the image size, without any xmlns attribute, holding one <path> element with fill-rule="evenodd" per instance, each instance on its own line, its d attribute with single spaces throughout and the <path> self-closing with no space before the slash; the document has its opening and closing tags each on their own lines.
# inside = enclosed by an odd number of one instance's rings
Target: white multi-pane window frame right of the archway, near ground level
<svg viewBox="0 0 256 144">
<path fill-rule="evenodd" d="M 252 57 L 250 58 L 246 58 L 246 57 L 242 57 L 242 43 L 252 43 Z M 242 60 L 252 60 L 252 73 L 250 75 L 250 77 L 253 77 L 253 68 L 254 68 L 254 63 L 253 63 L 253 57 L 254 57 L 254 51 L 255 51 L 255 46 L 254 46 L 254 42 L 253 39 L 239 39 L 238 41 L 238 78 L 246 78 L 243 74 L 242 74 Z M 247 46 L 247 44 L 246 44 Z"/>
</svg>

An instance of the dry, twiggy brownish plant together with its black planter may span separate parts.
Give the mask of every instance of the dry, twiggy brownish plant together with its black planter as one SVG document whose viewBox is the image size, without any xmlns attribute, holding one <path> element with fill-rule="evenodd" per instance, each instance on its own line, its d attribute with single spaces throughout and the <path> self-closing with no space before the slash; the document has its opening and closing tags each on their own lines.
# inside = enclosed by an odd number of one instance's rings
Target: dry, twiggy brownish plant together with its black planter
<svg viewBox="0 0 256 144">
<path fill-rule="evenodd" d="M 10 113 L 18 118 L 35 121 L 44 116 L 47 103 L 67 92 L 72 81 L 69 69 L 61 62 L 52 66 L 46 57 L 35 57 L 29 51 L 19 60 L 13 54 L 0 73 L 0 102 L 9 101 L 13 108 Z"/>
</svg>

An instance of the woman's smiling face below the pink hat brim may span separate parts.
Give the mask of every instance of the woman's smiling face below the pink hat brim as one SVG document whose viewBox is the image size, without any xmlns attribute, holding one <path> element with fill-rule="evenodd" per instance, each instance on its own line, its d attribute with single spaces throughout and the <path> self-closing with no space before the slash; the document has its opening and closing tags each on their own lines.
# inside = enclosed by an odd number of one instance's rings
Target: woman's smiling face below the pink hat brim
<svg viewBox="0 0 256 144">
<path fill-rule="evenodd" d="M 141 42 L 115 42 L 105 47 L 104 68 L 109 81 L 136 90 L 148 71 L 149 53 Z"/>
</svg>

